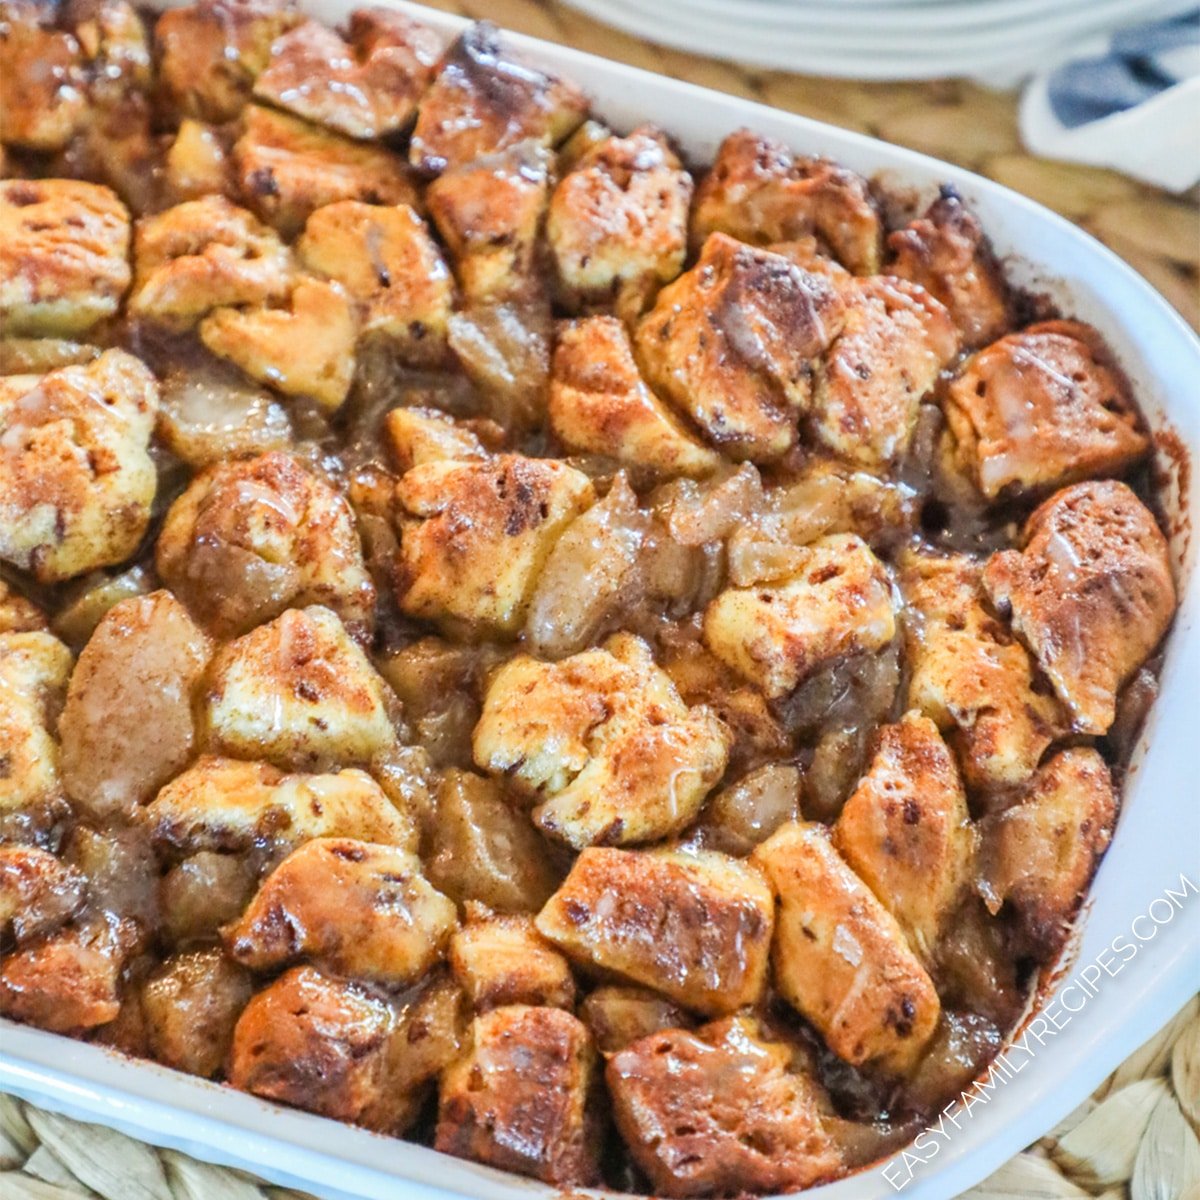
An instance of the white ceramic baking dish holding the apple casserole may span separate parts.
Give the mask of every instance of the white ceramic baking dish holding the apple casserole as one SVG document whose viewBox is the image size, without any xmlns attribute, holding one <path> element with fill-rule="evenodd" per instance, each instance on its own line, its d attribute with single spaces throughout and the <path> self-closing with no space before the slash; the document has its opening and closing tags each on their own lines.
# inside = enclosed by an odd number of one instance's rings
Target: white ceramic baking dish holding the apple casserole
<svg viewBox="0 0 1200 1200">
<path fill-rule="evenodd" d="M 307 7 L 313 16 L 338 23 L 354 2 L 316 0 Z M 463 24 L 415 5 L 395 2 L 395 7 L 446 34 Z M 920 199 L 938 184 L 953 182 L 978 212 L 1016 283 L 1049 294 L 1064 313 L 1103 331 L 1159 433 L 1182 604 L 1162 694 L 1142 733 L 1116 838 L 1093 883 L 1070 965 L 1061 966 L 1057 982 L 1044 990 L 1043 1015 L 1033 1016 L 1026 1049 L 1008 1052 L 1010 1078 L 982 1093 L 985 1103 L 972 1103 L 968 1111 L 953 1114 L 953 1121 L 947 1117 L 943 1132 L 919 1139 L 912 1157 L 898 1154 L 805 1193 L 805 1200 L 875 1200 L 892 1195 L 899 1183 L 913 1200 L 946 1200 L 1044 1134 L 1200 988 L 1200 770 L 1192 758 L 1200 755 L 1200 586 L 1188 520 L 1200 511 L 1200 480 L 1187 467 L 1189 451 L 1200 456 L 1200 342 L 1103 246 L 985 179 L 577 50 L 516 36 L 512 43 L 580 82 L 614 127 L 654 121 L 697 162 L 710 160 L 721 138 L 745 125 L 797 151 L 829 155 Z M 1169 890 L 1183 899 L 1166 898 Z M 0 1022 L 0 1090 L 324 1196 L 550 1200 L 560 1195 L 421 1146 L 8 1022 Z"/>
</svg>

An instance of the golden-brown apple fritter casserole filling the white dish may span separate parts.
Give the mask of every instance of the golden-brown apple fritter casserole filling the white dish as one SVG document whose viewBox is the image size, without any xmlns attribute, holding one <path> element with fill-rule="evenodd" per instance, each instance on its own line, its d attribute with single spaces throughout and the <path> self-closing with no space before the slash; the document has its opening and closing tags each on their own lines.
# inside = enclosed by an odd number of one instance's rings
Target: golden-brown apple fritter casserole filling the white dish
<svg viewBox="0 0 1200 1200">
<path fill-rule="evenodd" d="M 0 1013 L 564 1187 L 1000 1050 L 1175 589 L 1099 334 L 487 24 L 0 2 Z"/>
</svg>

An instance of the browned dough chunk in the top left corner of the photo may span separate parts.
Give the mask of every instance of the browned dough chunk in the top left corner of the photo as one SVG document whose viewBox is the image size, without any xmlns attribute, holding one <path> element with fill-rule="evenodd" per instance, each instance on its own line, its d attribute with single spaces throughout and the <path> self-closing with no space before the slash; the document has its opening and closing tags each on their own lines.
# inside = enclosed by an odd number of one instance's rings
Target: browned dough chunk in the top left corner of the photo
<svg viewBox="0 0 1200 1200">
<path fill-rule="evenodd" d="M 0 140 L 25 150 L 61 150 L 88 116 L 79 42 L 46 28 L 48 16 L 32 0 L 0 5 Z"/>
</svg>

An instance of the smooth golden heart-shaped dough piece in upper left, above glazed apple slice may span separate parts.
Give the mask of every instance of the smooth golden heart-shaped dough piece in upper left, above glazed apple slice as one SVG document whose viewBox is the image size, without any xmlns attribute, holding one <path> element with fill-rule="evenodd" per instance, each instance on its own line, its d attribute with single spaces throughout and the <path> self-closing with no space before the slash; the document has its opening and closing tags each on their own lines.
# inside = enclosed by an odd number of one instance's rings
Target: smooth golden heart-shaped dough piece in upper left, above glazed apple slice
<svg viewBox="0 0 1200 1200">
<path fill-rule="evenodd" d="M 251 379 L 287 396 L 306 396 L 326 413 L 341 408 L 354 379 L 358 324 L 336 283 L 301 277 L 286 307 L 217 308 L 200 322 L 200 341 Z"/>
</svg>

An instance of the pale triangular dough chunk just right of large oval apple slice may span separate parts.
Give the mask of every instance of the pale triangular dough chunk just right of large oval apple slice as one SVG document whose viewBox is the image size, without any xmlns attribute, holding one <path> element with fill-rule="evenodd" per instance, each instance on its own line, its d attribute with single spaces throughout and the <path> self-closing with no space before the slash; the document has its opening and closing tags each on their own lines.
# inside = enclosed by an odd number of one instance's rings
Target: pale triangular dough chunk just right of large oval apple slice
<svg viewBox="0 0 1200 1200">
<path fill-rule="evenodd" d="M 384 684 L 328 608 L 289 608 L 218 652 L 210 745 L 276 766 L 361 763 L 396 740 Z"/>
</svg>

